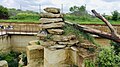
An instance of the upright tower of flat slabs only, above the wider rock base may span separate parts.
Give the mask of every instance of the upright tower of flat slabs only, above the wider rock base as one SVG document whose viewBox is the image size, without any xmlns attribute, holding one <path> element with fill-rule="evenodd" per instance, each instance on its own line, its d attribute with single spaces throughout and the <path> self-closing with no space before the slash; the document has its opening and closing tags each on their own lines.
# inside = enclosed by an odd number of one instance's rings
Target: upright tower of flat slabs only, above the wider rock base
<svg viewBox="0 0 120 67">
<path fill-rule="evenodd" d="M 63 21 L 63 14 L 60 14 L 60 9 L 58 8 L 45 8 L 47 13 L 41 14 L 40 19 L 40 31 L 39 37 L 44 39 L 47 34 L 63 34 L 63 30 L 61 29 L 65 23 Z"/>
</svg>

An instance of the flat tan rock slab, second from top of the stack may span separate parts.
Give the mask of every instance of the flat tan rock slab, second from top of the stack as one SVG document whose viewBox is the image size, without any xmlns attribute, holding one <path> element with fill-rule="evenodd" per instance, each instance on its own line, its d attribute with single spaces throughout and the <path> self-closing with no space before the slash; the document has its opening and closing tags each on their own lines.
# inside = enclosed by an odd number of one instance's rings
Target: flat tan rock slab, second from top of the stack
<svg viewBox="0 0 120 67">
<path fill-rule="evenodd" d="M 53 13 L 42 13 L 40 14 L 42 18 L 63 18 L 63 14 L 53 14 Z"/>
</svg>

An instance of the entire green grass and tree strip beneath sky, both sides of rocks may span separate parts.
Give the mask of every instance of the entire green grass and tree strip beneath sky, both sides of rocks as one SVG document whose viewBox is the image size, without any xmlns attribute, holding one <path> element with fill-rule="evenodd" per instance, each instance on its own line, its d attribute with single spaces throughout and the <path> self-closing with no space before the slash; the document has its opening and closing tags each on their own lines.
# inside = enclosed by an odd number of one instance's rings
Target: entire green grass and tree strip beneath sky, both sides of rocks
<svg viewBox="0 0 120 67">
<path fill-rule="evenodd" d="M 70 13 L 65 14 L 65 20 L 80 24 L 104 24 L 101 20 L 89 14 L 86 6 L 73 6 L 69 8 Z M 112 24 L 120 24 L 120 13 L 117 10 L 111 12 L 111 15 L 103 16 Z M 20 10 L 15 8 L 5 8 L 0 6 L 0 22 L 39 22 L 38 12 L 30 10 Z"/>
</svg>

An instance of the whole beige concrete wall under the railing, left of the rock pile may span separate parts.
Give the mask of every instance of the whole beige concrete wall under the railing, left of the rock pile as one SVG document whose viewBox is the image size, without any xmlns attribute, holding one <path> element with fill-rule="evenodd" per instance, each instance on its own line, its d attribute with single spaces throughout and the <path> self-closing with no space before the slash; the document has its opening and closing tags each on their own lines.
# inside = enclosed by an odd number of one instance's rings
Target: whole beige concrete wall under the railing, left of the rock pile
<svg viewBox="0 0 120 67">
<path fill-rule="evenodd" d="M 0 53 L 10 50 L 25 52 L 28 42 L 36 40 L 34 35 L 9 35 L 0 38 Z"/>
</svg>

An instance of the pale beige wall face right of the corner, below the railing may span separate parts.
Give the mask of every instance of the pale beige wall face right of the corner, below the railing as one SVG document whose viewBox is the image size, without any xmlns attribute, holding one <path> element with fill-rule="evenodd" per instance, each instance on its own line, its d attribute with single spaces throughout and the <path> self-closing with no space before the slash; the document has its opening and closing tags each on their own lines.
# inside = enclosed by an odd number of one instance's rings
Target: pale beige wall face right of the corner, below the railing
<svg viewBox="0 0 120 67">
<path fill-rule="evenodd" d="M 36 36 L 28 36 L 28 35 L 11 35 L 11 46 L 14 51 L 26 51 L 26 46 L 28 42 L 36 40 Z"/>
</svg>

